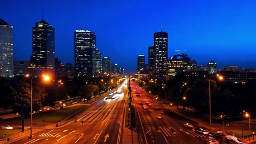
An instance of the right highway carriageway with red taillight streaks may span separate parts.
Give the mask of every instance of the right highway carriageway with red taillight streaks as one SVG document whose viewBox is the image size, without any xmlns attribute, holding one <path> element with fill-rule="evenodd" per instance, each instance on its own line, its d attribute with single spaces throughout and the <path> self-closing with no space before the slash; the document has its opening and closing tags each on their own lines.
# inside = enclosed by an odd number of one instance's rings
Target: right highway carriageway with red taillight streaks
<svg viewBox="0 0 256 144">
<path fill-rule="evenodd" d="M 165 109 L 158 101 L 143 93 L 139 86 L 131 81 L 133 105 L 137 111 L 136 117 L 141 121 L 139 133 L 144 137 L 144 143 L 205 143 L 207 135 L 196 133 L 185 127 L 187 119 L 178 117 Z M 148 110 L 143 108 L 148 106 Z"/>
</svg>

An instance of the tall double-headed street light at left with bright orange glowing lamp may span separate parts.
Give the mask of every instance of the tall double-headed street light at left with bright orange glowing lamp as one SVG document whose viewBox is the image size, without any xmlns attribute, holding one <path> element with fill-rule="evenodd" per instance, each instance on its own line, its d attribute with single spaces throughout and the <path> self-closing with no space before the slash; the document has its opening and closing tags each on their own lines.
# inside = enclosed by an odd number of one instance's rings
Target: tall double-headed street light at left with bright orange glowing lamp
<svg viewBox="0 0 256 144">
<path fill-rule="evenodd" d="M 26 74 L 26 77 L 30 77 L 29 74 Z M 32 129 L 33 129 L 33 78 L 37 76 L 32 76 L 31 77 L 31 111 L 30 111 L 30 137 L 32 139 Z M 50 81 L 50 76 L 48 75 L 43 75 L 43 80 L 44 81 Z"/>
</svg>

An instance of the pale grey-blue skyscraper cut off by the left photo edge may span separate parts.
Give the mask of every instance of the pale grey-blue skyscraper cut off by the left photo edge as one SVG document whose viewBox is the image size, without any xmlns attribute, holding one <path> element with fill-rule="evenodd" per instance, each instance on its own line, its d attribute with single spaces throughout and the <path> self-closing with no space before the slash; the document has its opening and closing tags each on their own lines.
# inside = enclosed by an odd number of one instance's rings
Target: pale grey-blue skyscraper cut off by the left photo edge
<svg viewBox="0 0 256 144">
<path fill-rule="evenodd" d="M 0 19 L 0 76 L 13 77 L 13 26 Z"/>
</svg>

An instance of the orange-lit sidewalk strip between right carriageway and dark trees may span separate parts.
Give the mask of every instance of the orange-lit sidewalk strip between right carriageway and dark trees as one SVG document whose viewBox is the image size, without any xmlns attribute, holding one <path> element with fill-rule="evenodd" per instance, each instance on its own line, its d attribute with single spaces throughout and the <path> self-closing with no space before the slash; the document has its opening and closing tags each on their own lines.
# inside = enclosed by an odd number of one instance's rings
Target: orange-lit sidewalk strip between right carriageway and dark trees
<svg viewBox="0 0 256 144">
<path fill-rule="evenodd" d="M 166 109 L 169 109 L 172 112 L 177 113 L 177 115 L 180 115 L 182 117 L 189 119 L 191 123 L 195 123 L 200 127 L 210 129 L 210 119 L 208 117 L 200 115 L 199 113 L 194 112 L 193 109 L 189 109 L 189 112 L 188 112 L 187 107 L 185 107 L 185 110 L 182 110 L 183 108 L 182 106 L 178 106 L 178 109 L 177 109 L 177 105 L 170 105 L 170 103 L 164 104 L 163 101 L 159 101 L 158 103 L 161 103 L 162 106 L 164 106 Z M 255 123 L 256 118 L 251 119 L 251 123 L 252 122 Z M 237 121 L 237 122 L 229 122 L 228 126 L 224 124 L 224 135 L 228 135 L 227 134 L 228 131 L 245 129 L 245 127 L 248 127 L 248 124 L 249 124 L 248 119 L 244 120 L 243 123 L 242 121 Z M 216 133 L 216 131 L 223 131 L 222 123 L 214 123 L 212 121 L 211 131 L 213 133 Z M 251 128 L 251 131 L 252 131 L 252 128 Z M 253 133 L 253 131 L 251 133 Z M 253 137 L 251 137 L 251 140 L 249 140 L 249 138 L 247 139 L 241 138 L 241 141 L 244 143 L 253 143 L 253 142 L 256 142 L 256 138 L 254 140 L 253 140 Z"/>
</svg>

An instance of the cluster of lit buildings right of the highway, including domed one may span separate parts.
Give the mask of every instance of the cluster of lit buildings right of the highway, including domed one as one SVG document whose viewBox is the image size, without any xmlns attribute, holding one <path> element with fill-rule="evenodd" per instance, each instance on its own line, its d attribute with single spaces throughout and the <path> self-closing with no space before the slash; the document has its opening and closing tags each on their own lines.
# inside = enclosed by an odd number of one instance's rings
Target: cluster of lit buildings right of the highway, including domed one
<svg viewBox="0 0 256 144">
<path fill-rule="evenodd" d="M 217 69 L 217 63 L 211 61 L 207 65 L 196 67 L 196 61 L 189 58 L 186 53 L 178 53 L 167 59 L 168 56 L 168 33 L 154 33 L 154 46 L 148 47 L 148 64 L 145 56 L 137 58 L 137 75 L 146 76 L 149 79 L 168 80 L 172 76 L 187 75 L 197 78 L 206 75 L 220 73 L 226 81 L 234 83 L 246 83 L 248 80 L 256 81 L 255 69 L 241 69 L 237 66 L 229 66 Z"/>
</svg>

